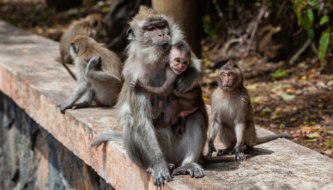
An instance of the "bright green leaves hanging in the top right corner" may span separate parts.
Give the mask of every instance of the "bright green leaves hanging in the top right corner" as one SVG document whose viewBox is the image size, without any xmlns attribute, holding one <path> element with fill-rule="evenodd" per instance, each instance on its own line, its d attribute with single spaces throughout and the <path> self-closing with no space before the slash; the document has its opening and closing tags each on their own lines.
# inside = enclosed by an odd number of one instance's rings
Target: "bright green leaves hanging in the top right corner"
<svg viewBox="0 0 333 190">
<path fill-rule="evenodd" d="M 314 39 L 314 30 L 321 29 L 321 26 L 327 26 L 327 28 L 321 32 L 321 38 L 319 40 L 318 57 L 326 63 L 325 55 L 327 49 L 333 41 L 332 31 L 332 1 L 320 1 L 320 0 L 294 0 L 293 12 L 296 13 L 298 18 L 298 25 L 303 26 L 307 30 L 307 37 Z M 317 17 L 314 15 L 316 12 Z"/>
</svg>

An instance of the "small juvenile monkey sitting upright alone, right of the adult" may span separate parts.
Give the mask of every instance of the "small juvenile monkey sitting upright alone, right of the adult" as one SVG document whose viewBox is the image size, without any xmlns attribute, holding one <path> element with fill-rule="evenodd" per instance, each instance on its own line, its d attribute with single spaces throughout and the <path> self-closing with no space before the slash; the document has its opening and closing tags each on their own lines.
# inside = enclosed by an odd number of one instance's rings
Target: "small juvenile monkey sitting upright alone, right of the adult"
<svg viewBox="0 0 333 190">
<path fill-rule="evenodd" d="M 253 149 L 253 143 L 260 144 L 280 137 L 292 138 L 288 134 L 257 137 L 250 95 L 243 81 L 241 70 L 233 61 L 228 61 L 221 67 L 218 75 L 219 87 L 212 94 L 212 117 L 206 157 L 212 157 L 213 151 L 216 152 L 214 139 L 218 131 L 221 133 L 221 142 L 227 149 L 217 151 L 216 155 L 234 152 L 235 159 L 239 157 L 241 161 L 246 160 L 244 144 L 246 153 L 257 155 L 258 151 Z"/>
</svg>

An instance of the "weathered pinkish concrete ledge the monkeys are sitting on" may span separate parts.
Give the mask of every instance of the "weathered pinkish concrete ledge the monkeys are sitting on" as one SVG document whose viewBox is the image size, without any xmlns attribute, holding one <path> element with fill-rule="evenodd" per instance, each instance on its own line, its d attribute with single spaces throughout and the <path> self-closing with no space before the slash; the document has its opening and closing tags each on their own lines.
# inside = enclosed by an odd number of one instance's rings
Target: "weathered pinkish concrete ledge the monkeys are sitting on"
<svg viewBox="0 0 333 190">
<path fill-rule="evenodd" d="M 130 162 L 121 140 L 96 149 L 89 146 L 99 133 L 121 134 L 114 109 L 60 113 L 56 104 L 73 91 L 75 82 L 53 61 L 57 56 L 58 43 L 0 21 L 0 90 L 112 187 L 153 189 L 151 175 Z M 259 136 L 270 133 L 258 132 Z M 225 157 L 222 163 L 205 164 L 204 178 L 175 176 L 164 189 L 333 189 L 332 159 L 284 139 L 260 144 L 257 149 L 259 155 L 246 162 Z"/>
</svg>

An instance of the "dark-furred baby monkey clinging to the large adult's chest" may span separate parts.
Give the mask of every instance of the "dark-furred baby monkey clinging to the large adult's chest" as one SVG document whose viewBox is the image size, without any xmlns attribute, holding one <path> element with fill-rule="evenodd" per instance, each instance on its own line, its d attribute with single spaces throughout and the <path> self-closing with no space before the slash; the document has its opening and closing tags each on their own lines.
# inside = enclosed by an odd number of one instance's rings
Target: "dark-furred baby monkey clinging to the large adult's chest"
<svg viewBox="0 0 333 190">
<path fill-rule="evenodd" d="M 130 88 L 134 91 L 157 96 L 169 96 L 171 93 L 175 92 L 174 83 L 176 78 L 187 69 L 189 62 L 191 61 L 191 48 L 185 41 L 178 41 L 178 43 L 172 46 L 169 58 L 170 62 L 165 69 L 166 80 L 164 81 L 163 86 L 145 86 L 137 79 L 130 83 Z M 194 87 L 187 93 L 177 93 L 177 95 L 173 93 L 166 108 L 164 120 L 155 121 L 154 126 L 170 126 L 173 118 L 177 115 L 181 120 L 176 129 L 173 128 L 173 132 L 176 133 L 176 135 L 182 134 L 184 132 L 186 116 L 196 111 L 199 106 L 198 102 L 202 99 L 201 96 L 199 97 L 201 93 L 198 92 L 198 90 L 199 89 Z"/>
</svg>

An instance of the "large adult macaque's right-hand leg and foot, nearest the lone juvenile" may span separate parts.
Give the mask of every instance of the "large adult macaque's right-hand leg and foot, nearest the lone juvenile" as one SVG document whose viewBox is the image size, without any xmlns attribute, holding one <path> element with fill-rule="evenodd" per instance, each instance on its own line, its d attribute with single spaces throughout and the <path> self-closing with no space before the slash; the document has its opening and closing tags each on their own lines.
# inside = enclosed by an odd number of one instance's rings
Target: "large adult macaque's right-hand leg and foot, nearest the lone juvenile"
<svg viewBox="0 0 333 190">
<path fill-rule="evenodd" d="M 198 164 L 207 139 L 207 129 L 200 111 L 187 117 L 185 133 L 173 147 L 173 156 L 178 158 L 180 167 L 173 170 L 173 175 L 189 174 L 192 178 L 202 178 L 205 173 Z"/>
</svg>

